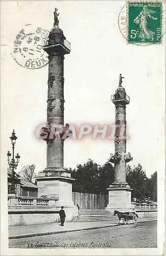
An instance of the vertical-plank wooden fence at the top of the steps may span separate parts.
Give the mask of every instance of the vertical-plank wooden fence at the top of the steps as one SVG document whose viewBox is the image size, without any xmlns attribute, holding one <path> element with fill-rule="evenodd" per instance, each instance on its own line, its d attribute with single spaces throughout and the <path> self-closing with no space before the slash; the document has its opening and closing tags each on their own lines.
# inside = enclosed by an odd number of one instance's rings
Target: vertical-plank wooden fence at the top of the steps
<svg viewBox="0 0 166 256">
<path fill-rule="evenodd" d="M 72 192 L 72 197 L 81 209 L 104 209 L 108 204 L 108 195 Z"/>
</svg>

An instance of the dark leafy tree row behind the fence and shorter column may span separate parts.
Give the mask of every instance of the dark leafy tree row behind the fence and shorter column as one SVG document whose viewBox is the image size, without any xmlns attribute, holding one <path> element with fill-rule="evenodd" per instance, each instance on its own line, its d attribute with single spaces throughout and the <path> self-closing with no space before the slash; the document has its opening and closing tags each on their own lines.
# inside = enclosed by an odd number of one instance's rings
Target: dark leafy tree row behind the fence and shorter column
<svg viewBox="0 0 166 256">
<path fill-rule="evenodd" d="M 99 165 L 88 159 L 86 163 L 78 164 L 75 169 L 67 169 L 72 173 L 73 191 L 80 193 L 107 194 L 110 184 L 114 181 L 114 167 L 110 159 L 104 164 Z M 157 172 L 148 178 L 143 166 L 139 163 L 131 167 L 127 165 L 126 181 L 132 190 L 132 197 L 139 200 L 152 198 L 157 200 Z"/>
</svg>

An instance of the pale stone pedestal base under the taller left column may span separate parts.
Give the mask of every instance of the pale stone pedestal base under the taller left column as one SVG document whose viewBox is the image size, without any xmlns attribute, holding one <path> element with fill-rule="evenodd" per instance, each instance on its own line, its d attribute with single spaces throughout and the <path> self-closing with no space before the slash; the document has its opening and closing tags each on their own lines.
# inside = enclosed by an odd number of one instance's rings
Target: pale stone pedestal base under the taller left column
<svg viewBox="0 0 166 256">
<path fill-rule="evenodd" d="M 39 172 L 35 179 L 39 187 L 38 197 L 57 198 L 56 208 L 59 211 L 61 206 L 64 207 L 65 221 L 75 221 L 78 216 L 77 206 L 72 200 L 72 182 L 75 179 L 70 178 L 70 174 L 65 173 L 62 168 L 56 169 L 56 172 L 53 169 L 45 169 Z M 59 214 L 55 217 L 52 218 L 54 221 L 60 221 Z"/>
</svg>

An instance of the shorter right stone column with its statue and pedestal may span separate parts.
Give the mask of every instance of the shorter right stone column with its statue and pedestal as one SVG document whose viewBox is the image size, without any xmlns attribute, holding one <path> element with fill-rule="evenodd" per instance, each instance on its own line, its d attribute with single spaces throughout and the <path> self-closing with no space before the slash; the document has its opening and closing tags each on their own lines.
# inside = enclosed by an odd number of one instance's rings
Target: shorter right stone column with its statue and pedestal
<svg viewBox="0 0 166 256">
<path fill-rule="evenodd" d="M 111 96 L 115 104 L 115 153 L 111 154 L 110 162 L 114 163 L 114 182 L 109 186 L 109 204 L 107 209 L 126 211 L 131 208 L 131 188 L 126 182 L 126 163 L 132 160 L 130 153 L 126 153 L 126 105 L 130 98 L 122 87 L 122 75 L 115 94 Z"/>
</svg>

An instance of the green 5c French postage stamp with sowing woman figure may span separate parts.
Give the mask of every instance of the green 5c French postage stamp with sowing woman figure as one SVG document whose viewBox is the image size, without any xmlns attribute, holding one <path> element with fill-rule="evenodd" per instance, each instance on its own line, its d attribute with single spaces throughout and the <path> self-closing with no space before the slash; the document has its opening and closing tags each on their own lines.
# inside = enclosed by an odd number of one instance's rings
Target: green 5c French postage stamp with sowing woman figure
<svg viewBox="0 0 166 256">
<path fill-rule="evenodd" d="M 129 1 L 128 7 L 128 42 L 161 43 L 161 2 Z"/>
</svg>

